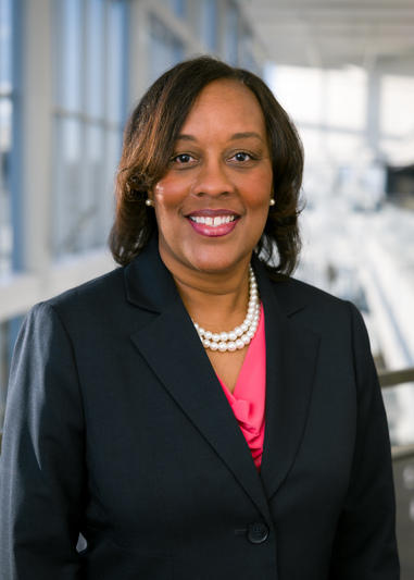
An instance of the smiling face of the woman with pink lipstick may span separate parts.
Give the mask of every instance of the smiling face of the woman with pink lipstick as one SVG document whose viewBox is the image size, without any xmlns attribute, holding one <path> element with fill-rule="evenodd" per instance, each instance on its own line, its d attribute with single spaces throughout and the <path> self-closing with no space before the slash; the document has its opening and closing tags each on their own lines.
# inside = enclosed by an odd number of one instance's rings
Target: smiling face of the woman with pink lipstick
<svg viewBox="0 0 414 580">
<path fill-rule="evenodd" d="M 160 255 L 173 275 L 246 268 L 266 223 L 272 182 L 255 96 L 235 81 L 209 84 L 183 125 L 167 171 L 149 192 Z"/>
</svg>

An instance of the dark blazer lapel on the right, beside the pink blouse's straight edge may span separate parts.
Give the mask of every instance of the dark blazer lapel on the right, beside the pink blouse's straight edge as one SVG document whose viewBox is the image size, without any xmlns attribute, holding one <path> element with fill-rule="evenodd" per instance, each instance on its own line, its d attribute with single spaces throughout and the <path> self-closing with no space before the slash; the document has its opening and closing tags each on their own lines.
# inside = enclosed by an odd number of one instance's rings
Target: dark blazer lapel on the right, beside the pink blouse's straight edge
<svg viewBox="0 0 414 580">
<path fill-rule="evenodd" d="M 262 264 L 255 264 L 265 312 L 266 332 L 266 427 L 261 478 L 266 496 L 287 477 L 299 451 L 311 402 L 319 337 L 294 322 L 305 307 L 289 296 L 289 282 L 272 284 Z M 283 288 L 281 293 L 278 287 Z M 280 297 L 280 296 L 279 296 Z"/>
</svg>

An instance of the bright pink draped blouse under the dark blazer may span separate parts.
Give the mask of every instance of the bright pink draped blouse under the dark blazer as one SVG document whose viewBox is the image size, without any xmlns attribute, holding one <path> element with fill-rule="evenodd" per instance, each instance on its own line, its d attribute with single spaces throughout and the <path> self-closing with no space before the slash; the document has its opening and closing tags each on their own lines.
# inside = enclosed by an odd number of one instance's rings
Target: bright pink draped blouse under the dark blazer
<svg viewBox="0 0 414 580">
<path fill-rule="evenodd" d="M 234 392 L 230 393 L 222 379 L 218 375 L 217 378 L 250 447 L 254 464 L 260 470 L 266 402 L 266 341 L 263 305 L 258 331 L 249 345 Z"/>
</svg>

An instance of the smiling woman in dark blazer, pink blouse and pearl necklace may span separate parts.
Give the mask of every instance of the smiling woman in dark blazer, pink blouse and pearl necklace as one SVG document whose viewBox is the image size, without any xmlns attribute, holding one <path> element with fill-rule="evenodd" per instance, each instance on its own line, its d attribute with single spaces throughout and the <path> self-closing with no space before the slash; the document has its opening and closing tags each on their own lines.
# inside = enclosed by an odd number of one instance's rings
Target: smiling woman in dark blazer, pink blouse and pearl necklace
<svg viewBox="0 0 414 580">
<path fill-rule="evenodd" d="M 289 277 L 302 164 L 249 72 L 202 57 L 145 95 L 123 268 L 35 307 L 17 341 L 3 580 L 399 578 L 363 322 Z"/>
</svg>

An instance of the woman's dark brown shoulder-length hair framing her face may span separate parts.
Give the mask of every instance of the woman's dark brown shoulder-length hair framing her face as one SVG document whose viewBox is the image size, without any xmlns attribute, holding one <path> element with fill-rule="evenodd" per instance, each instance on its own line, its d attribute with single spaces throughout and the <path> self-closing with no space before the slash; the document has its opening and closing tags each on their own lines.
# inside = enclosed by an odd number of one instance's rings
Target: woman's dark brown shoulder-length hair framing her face
<svg viewBox="0 0 414 580">
<path fill-rule="evenodd" d="M 303 149 L 298 132 L 271 89 L 256 75 L 212 57 L 176 64 L 147 90 L 125 127 L 116 177 L 116 211 L 109 245 L 115 261 L 126 266 L 146 246 L 156 229 L 147 192 L 168 166 L 175 140 L 202 89 L 218 78 L 234 79 L 256 97 L 271 144 L 275 206 L 258 249 L 273 277 L 291 274 L 300 251 L 298 217 Z"/>
</svg>

